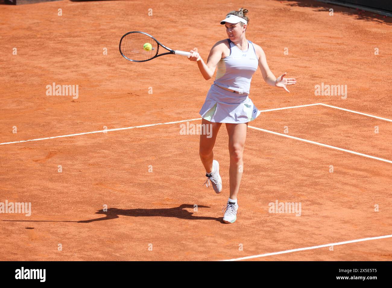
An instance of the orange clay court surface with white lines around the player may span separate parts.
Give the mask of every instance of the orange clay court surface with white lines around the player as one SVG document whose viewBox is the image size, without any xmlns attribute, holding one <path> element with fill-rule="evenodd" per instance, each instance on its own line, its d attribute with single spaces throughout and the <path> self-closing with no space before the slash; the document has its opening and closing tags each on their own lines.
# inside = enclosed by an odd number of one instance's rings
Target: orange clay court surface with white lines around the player
<svg viewBox="0 0 392 288">
<path fill-rule="evenodd" d="M 206 61 L 239 7 L 274 75 L 298 83 L 287 93 L 254 74 L 262 113 L 229 225 L 225 128 L 221 194 L 202 187 L 199 135 L 180 134 L 201 123 L 214 77 L 182 56 L 129 62 L 118 43 L 143 31 Z M 1 4 L 0 202 L 29 202 L 31 216 L 0 214 L 0 260 L 392 260 L 391 18 L 373 14 L 316 1 Z M 78 98 L 47 96 L 53 82 Z M 315 96 L 321 83 L 347 98 Z M 301 215 L 270 213 L 276 201 Z"/>
</svg>

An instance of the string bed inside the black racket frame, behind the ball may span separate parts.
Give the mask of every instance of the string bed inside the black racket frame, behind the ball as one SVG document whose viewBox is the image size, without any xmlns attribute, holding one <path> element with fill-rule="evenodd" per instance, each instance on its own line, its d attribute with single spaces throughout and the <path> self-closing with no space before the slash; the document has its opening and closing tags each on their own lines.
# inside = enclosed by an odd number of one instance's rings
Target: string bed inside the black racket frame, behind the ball
<svg viewBox="0 0 392 288">
<path fill-rule="evenodd" d="M 152 49 L 143 49 L 145 43 L 150 43 Z M 158 43 L 150 36 L 143 33 L 129 33 L 125 35 L 120 44 L 121 53 L 132 61 L 146 61 L 158 54 Z"/>
</svg>

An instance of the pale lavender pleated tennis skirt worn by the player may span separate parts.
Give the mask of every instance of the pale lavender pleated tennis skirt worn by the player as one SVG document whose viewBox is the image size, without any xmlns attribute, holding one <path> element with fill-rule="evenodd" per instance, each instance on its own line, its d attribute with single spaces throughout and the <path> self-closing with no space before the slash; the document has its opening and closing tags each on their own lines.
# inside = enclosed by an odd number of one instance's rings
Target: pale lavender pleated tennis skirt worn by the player
<svg viewBox="0 0 392 288">
<path fill-rule="evenodd" d="M 215 84 L 211 85 L 199 113 L 205 120 L 216 123 L 247 123 L 260 115 L 248 94 L 230 92 Z"/>
</svg>

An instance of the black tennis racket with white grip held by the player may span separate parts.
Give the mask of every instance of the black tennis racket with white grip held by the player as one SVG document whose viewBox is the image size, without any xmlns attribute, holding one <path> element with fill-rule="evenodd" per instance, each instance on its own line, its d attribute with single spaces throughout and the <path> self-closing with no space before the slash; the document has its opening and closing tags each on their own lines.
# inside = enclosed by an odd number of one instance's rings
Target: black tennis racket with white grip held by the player
<svg viewBox="0 0 392 288">
<path fill-rule="evenodd" d="M 145 49 L 143 49 L 143 45 L 146 43 L 151 44 L 151 50 L 146 51 Z M 162 46 L 169 52 L 158 55 L 159 46 Z M 145 62 L 152 60 L 156 57 L 168 54 L 176 54 L 183 56 L 188 56 L 189 54 L 191 54 L 185 51 L 172 50 L 165 45 L 162 45 L 151 35 L 140 31 L 128 32 L 121 37 L 120 53 L 125 59 L 132 62 Z"/>
</svg>

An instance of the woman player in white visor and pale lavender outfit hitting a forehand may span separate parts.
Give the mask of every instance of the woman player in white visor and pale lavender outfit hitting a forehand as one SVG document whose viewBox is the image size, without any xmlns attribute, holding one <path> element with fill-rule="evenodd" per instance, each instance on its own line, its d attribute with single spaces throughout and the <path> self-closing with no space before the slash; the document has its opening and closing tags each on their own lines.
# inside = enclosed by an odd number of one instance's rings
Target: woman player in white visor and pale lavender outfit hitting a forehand
<svg viewBox="0 0 392 288">
<path fill-rule="evenodd" d="M 243 171 L 243 149 L 245 145 L 248 122 L 256 119 L 260 111 L 249 98 L 250 81 L 252 75 L 260 67 L 264 81 L 274 87 L 281 87 L 287 92 L 286 85 L 293 85 L 294 78 L 283 78 L 287 73 L 275 78 L 270 71 L 265 53 L 261 47 L 245 38 L 245 31 L 249 25 L 249 17 L 245 16 L 247 9 L 240 8 L 231 11 L 220 22 L 225 24 L 228 39 L 215 43 L 207 59 L 207 64 L 197 52 L 191 50 L 189 60 L 196 61 L 205 80 L 209 80 L 215 72 L 216 79 L 211 85 L 201 107 L 200 115 L 203 118 L 201 124 L 211 125 L 212 137 L 205 133 L 200 135 L 200 159 L 206 170 L 207 187 L 210 185 L 216 193 L 222 190 L 222 179 L 219 175 L 219 163 L 214 160 L 214 148 L 216 136 L 222 125 L 226 124 L 229 134 L 229 183 L 230 196 L 227 205 L 223 208 L 223 221 L 234 223 L 237 219 L 238 201 L 237 195 Z M 203 127 L 203 126 L 202 126 Z"/>
</svg>

